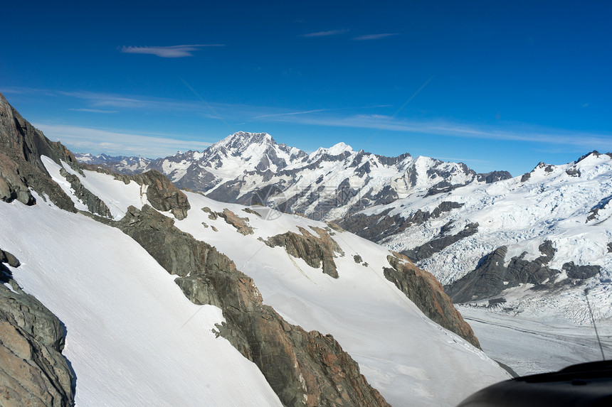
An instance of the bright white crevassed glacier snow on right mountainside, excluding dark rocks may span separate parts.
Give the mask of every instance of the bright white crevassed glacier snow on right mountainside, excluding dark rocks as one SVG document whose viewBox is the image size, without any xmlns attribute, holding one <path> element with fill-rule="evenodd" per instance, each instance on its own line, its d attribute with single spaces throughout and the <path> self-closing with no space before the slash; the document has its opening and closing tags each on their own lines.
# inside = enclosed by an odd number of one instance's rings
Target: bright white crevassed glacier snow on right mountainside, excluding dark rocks
<svg viewBox="0 0 612 407">
<path fill-rule="evenodd" d="M 612 318 L 612 254 L 608 249 L 612 242 L 612 206 L 608 205 L 611 190 L 611 156 L 590 153 L 566 165 L 540 163 L 523 177 L 467 185 L 438 195 L 411 195 L 361 213 L 376 215 L 388 211 L 389 216 L 408 218 L 417 210 L 431 211 L 445 201 L 463 205 L 440 217 L 413 224 L 380 242 L 403 251 L 430 242 L 445 225 L 450 224 L 448 234 L 452 235 L 468 224 L 478 223 L 475 234 L 418 262 L 418 266 L 433 273 L 443 284 L 465 276 L 483 256 L 500 246 L 508 247 L 507 264 L 522 253 L 527 261 L 536 259 L 541 255 L 539 245 L 550 240 L 556 253 L 549 266 L 561 271 L 556 282 L 567 278 L 562 268 L 569 261 L 600 266 L 601 272 L 586 279 L 584 285 L 540 293 L 529 291 L 527 285 L 499 296 L 512 299 L 506 306 L 529 318 L 559 318 L 588 325 L 584 288 L 591 290 L 596 318 Z"/>
</svg>

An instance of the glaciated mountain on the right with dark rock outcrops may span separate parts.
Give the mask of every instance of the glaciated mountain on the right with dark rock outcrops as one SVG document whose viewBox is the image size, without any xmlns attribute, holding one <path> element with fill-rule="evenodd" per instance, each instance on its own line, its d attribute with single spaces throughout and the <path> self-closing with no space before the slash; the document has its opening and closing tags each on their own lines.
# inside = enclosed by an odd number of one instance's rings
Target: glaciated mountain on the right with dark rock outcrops
<svg viewBox="0 0 612 407">
<path fill-rule="evenodd" d="M 371 207 L 342 225 L 431 271 L 455 302 L 590 325 L 585 288 L 596 320 L 612 318 L 611 191 L 611 154 L 593 151 Z"/>
</svg>

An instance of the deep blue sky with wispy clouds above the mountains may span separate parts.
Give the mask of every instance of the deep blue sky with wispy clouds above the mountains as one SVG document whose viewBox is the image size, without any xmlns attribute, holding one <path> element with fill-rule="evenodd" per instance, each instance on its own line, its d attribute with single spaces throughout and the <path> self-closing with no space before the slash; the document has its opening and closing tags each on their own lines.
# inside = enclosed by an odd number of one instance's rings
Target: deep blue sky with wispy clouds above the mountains
<svg viewBox="0 0 612 407">
<path fill-rule="evenodd" d="M 14 1 L 3 15 L 0 92 L 73 151 L 157 157 L 265 131 L 512 175 L 612 151 L 608 1 Z"/>
</svg>

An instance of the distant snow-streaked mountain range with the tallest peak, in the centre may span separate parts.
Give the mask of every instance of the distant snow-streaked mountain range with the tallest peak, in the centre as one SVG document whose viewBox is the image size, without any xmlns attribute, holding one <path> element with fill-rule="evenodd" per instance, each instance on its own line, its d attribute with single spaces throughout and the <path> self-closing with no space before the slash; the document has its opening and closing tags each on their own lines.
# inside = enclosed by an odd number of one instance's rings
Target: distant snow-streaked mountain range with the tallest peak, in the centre
<svg viewBox="0 0 612 407">
<path fill-rule="evenodd" d="M 78 156 L 79 158 L 80 156 Z M 131 161 L 100 163 L 132 173 Z M 510 178 L 495 171 L 477 174 L 463 163 L 384 157 L 353 151 L 338 143 L 307 154 L 278 144 L 265 133 L 238 132 L 205 151 L 188 151 L 151 161 L 142 170 L 159 170 L 179 188 L 204 192 L 223 202 L 275 205 L 282 212 L 311 219 L 338 219 L 366 207 L 393 202 L 413 193 L 436 194 L 470 183 Z"/>
</svg>

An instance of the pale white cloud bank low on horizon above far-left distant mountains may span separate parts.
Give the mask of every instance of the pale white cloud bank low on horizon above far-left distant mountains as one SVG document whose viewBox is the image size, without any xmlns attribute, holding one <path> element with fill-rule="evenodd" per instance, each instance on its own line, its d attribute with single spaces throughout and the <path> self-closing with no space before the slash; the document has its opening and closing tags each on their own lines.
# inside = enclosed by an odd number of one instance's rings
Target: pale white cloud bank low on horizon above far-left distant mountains
<svg viewBox="0 0 612 407">
<path fill-rule="evenodd" d="M 72 151 L 111 155 L 165 157 L 176 150 L 204 150 L 211 143 L 185 140 L 179 135 L 131 134 L 63 124 L 33 124 L 51 140 L 61 141 Z"/>
</svg>

